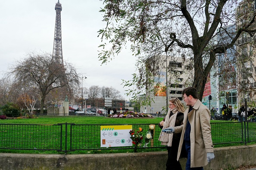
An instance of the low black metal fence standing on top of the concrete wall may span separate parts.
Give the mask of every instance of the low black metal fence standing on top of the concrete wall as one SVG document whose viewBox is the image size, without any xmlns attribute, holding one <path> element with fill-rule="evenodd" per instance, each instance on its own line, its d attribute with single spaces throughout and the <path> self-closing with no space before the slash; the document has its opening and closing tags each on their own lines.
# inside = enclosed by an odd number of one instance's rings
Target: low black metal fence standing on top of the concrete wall
<svg viewBox="0 0 256 170">
<path fill-rule="evenodd" d="M 124 125 L 124 124 L 111 124 Z M 150 124 L 130 124 L 132 129 L 143 128 L 143 134 Z M 0 124 L 0 149 L 76 150 L 134 149 L 133 146 L 100 147 L 100 126 L 106 124 Z M 158 141 L 161 129 L 155 124 L 155 134 L 147 148 L 165 148 Z M 214 145 L 226 143 L 247 143 L 256 141 L 256 122 L 211 123 Z M 144 140 L 140 149 L 143 147 Z"/>
</svg>

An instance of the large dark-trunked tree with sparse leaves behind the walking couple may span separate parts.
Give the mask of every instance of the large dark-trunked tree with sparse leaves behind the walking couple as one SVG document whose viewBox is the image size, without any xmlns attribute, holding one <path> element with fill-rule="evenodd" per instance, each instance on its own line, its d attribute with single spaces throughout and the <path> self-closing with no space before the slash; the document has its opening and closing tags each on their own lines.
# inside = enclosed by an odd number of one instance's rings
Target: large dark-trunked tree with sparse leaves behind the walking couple
<svg viewBox="0 0 256 170">
<path fill-rule="evenodd" d="M 139 73 L 125 85 L 136 84 L 137 91 L 149 88 L 152 82 L 147 75 L 159 72 L 157 67 L 147 67 L 149 59 L 150 63 L 161 65 L 162 60 L 152 56 L 189 59 L 187 69 L 194 70 L 189 81 L 199 91 L 201 100 L 216 56 L 233 48 L 243 33 L 253 36 L 256 31 L 256 12 L 250 0 L 244 1 L 243 15 L 236 15 L 238 0 L 105 0 L 101 12 L 107 24 L 99 30 L 103 40 L 99 58 L 106 63 L 131 42 Z M 227 41 L 222 33 L 229 35 L 227 26 L 231 24 L 236 25 L 236 32 Z"/>
</svg>

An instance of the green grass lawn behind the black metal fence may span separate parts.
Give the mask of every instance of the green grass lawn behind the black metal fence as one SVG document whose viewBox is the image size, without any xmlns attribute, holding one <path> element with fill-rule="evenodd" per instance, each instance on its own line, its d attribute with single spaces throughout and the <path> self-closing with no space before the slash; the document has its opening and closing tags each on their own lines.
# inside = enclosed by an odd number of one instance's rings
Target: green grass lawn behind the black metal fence
<svg viewBox="0 0 256 170">
<path fill-rule="evenodd" d="M 75 147 L 77 147 L 77 151 L 74 151 L 74 152 L 69 152 L 69 153 L 72 153 L 72 154 L 78 154 L 78 153 L 117 153 L 117 152 L 133 152 L 131 149 L 109 149 L 109 150 L 104 150 L 104 149 L 94 149 L 94 150 L 84 150 L 84 146 L 83 143 L 89 143 L 89 145 L 97 145 L 99 147 L 99 139 L 98 139 L 98 136 L 99 134 L 99 130 L 98 128 L 100 126 L 98 125 L 113 125 L 113 124 L 139 124 L 138 126 L 142 126 L 145 131 L 144 133 L 147 132 L 147 128 L 148 128 L 148 125 L 141 125 L 141 124 L 158 124 L 160 121 L 162 121 L 163 118 L 106 118 L 106 117 L 101 117 L 101 116 L 68 116 L 68 117 L 39 117 L 39 118 L 31 118 L 31 119 L 4 119 L 4 120 L 0 120 L 0 124 L 37 124 L 37 125 L 49 125 L 49 124 L 65 124 L 66 122 L 67 123 L 74 123 L 76 125 L 78 125 L 77 127 L 74 126 L 74 131 L 78 131 L 78 137 L 79 137 L 79 134 L 81 133 L 81 137 L 83 138 L 79 138 L 77 141 L 77 144 L 75 145 Z M 219 145 L 216 145 L 215 147 L 222 147 L 222 146 L 237 146 L 237 145 L 244 145 L 244 143 L 241 143 L 239 142 L 241 140 L 241 135 L 240 135 L 240 123 L 227 123 L 227 121 L 219 121 L 219 120 L 211 120 L 211 123 L 212 123 L 212 141 L 213 143 L 225 143 L 225 141 L 227 142 L 231 142 L 229 144 L 219 144 Z M 81 127 L 79 126 L 81 124 Z M 84 126 L 85 124 L 90 124 L 92 126 Z M 94 127 L 94 125 L 96 125 Z M 3 125 L 2 125 L 3 126 Z M 21 126 L 22 127 L 22 126 Z M 28 133 L 31 133 L 31 134 L 35 134 L 35 131 L 37 131 L 36 133 L 36 136 L 34 137 L 33 135 L 31 135 L 31 137 L 33 136 L 34 138 L 36 137 L 41 137 L 42 135 L 40 134 L 40 131 L 43 127 L 40 127 L 41 129 L 23 129 L 23 130 L 20 130 L 21 128 L 20 126 L 18 128 L 15 128 L 13 131 L 12 131 L 12 134 L 11 135 L 16 135 L 18 136 L 17 134 L 22 134 L 24 133 L 24 131 L 26 131 L 26 134 L 25 136 L 28 135 Z M 81 130 L 83 129 L 84 127 L 88 128 L 89 129 L 86 129 L 86 131 L 91 131 L 91 134 L 94 134 L 94 136 L 97 138 L 95 138 L 95 141 L 90 139 L 91 142 L 88 142 L 88 141 L 85 141 L 87 138 L 90 138 L 89 137 L 85 137 L 84 135 L 87 135 L 87 134 L 83 134 L 84 133 L 84 130 Z M 137 127 L 134 125 L 134 127 Z M 133 127 L 133 128 L 134 128 Z M 26 126 L 27 128 L 27 126 Z M 33 127 L 34 128 L 34 127 Z M 70 128 L 70 125 L 68 126 L 68 128 Z M 77 128 L 77 129 L 75 129 Z M 95 129 L 91 129 L 91 128 L 95 128 Z M 255 133 L 256 131 L 256 127 L 255 127 L 255 124 L 253 124 L 253 127 L 254 129 L 253 133 Z M 80 130 L 79 130 L 80 129 Z M 59 134 L 59 130 L 56 130 L 56 134 Z M 158 136 L 159 136 L 159 133 L 160 133 L 160 128 L 157 127 L 156 125 L 156 137 L 155 137 L 155 144 L 159 145 L 160 146 L 160 143 L 159 141 L 157 140 L 158 139 Z M 1 132 L 0 134 L 0 137 L 3 138 L 3 131 Z M 90 134 L 90 133 L 89 133 Z M 2 136 L 1 136 L 2 135 Z M 5 134 L 6 135 L 6 134 Z M 8 136 L 9 134 L 7 134 Z M 24 134 L 23 134 L 24 135 Z M 44 134 L 43 134 L 44 135 Z M 4 138 L 8 138 L 7 136 L 5 136 Z M 255 135 L 253 134 L 253 136 L 255 137 Z M 18 139 L 19 138 L 22 138 L 22 136 L 18 136 L 17 137 Z M 63 139 L 65 139 L 65 134 L 62 136 Z M 68 138 L 70 138 L 70 135 L 68 134 Z M 36 141 L 36 139 L 34 139 Z M 234 140 L 237 140 L 237 143 L 232 143 Z M 21 142 L 22 143 L 22 148 L 23 148 L 23 145 L 28 145 L 28 148 L 31 148 L 31 143 L 33 144 L 33 140 L 31 138 L 31 141 L 28 141 L 26 143 L 24 143 L 24 141 Z M 70 144 L 69 140 L 67 141 L 68 143 L 68 146 Z M 1 144 L 1 143 L 0 143 Z M 12 146 L 12 148 L 14 148 L 13 150 L 12 149 L 0 149 L 0 152 L 12 152 L 12 153 L 60 153 L 60 152 L 57 152 L 57 151 L 40 151 L 40 150 L 17 150 L 15 148 L 20 148 L 20 147 L 16 147 L 15 144 L 12 144 L 12 142 L 6 144 L 6 146 Z M 17 144 L 19 145 L 19 143 Z M 40 143 L 40 146 L 44 149 L 44 148 L 47 148 L 47 147 L 50 147 L 50 145 L 54 145 L 54 141 L 51 143 L 49 141 L 41 144 Z M 5 148 L 2 146 L 2 148 Z M 9 148 L 9 147 L 8 147 Z M 25 147 L 26 148 L 26 147 Z M 34 148 L 34 147 L 32 147 Z M 93 147 L 92 147 L 93 148 Z M 97 148 L 97 147 L 96 147 Z M 79 150 L 81 149 L 81 150 Z M 153 149 L 140 149 L 139 152 L 149 152 L 149 151 L 160 151 L 160 150 L 165 150 L 165 149 L 162 149 L 162 148 L 153 148 Z"/>
</svg>

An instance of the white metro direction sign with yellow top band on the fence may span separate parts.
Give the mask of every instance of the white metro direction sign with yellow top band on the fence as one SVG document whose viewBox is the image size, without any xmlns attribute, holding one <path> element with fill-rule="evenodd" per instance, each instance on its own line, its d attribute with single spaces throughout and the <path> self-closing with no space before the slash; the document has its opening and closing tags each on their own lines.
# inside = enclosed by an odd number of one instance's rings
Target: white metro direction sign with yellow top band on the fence
<svg viewBox="0 0 256 170">
<path fill-rule="evenodd" d="M 100 126 L 100 147 L 132 146 L 132 125 Z"/>
</svg>

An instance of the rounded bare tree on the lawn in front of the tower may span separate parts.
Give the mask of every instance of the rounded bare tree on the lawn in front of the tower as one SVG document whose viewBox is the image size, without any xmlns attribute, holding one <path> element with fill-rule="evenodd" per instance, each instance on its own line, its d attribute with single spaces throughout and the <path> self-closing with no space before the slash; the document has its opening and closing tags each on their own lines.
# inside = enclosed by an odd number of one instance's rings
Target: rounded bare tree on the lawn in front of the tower
<svg viewBox="0 0 256 170">
<path fill-rule="evenodd" d="M 17 61 L 11 68 L 16 82 L 37 86 L 41 94 L 41 113 L 47 94 L 56 88 L 70 90 L 78 85 L 78 75 L 75 68 L 69 64 L 55 62 L 54 57 L 47 53 L 28 53 L 21 61 Z"/>
</svg>

